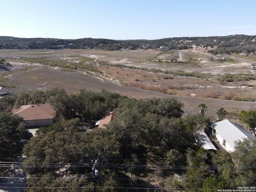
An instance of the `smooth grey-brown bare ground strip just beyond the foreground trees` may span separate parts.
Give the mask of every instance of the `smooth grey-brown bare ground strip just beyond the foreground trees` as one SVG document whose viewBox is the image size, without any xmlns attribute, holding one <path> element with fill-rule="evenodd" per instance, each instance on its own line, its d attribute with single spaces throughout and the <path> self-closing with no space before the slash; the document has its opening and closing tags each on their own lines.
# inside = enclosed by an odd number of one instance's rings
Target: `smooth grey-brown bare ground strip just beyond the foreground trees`
<svg viewBox="0 0 256 192">
<path fill-rule="evenodd" d="M 212 118 L 216 118 L 215 112 L 220 107 L 225 107 L 226 110 L 233 114 L 238 114 L 240 110 L 246 110 L 249 108 L 249 102 L 170 95 L 140 89 L 139 87 L 120 86 L 114 83 L 101 81 L 95 77 L 85 76 L 79 71 L 63 71 L 59 68 L 53 69 L 50 67 L 22 71 L 21 73 L 10 76 L 6 83 L 15 85 L 13 90 L 14 93 L 60 87 L 66 89 L 68 93 L 77 93 L 80 89 L 92 91 L 105 89 L 107 91 L 116 92 L 135 99 L 176 98 L 184 103 L 184 110 L 186 111 L 186 114 L 198 113 L 197 105 L 204 102 L 208 106 L 206 114 Z"/>
</svg>

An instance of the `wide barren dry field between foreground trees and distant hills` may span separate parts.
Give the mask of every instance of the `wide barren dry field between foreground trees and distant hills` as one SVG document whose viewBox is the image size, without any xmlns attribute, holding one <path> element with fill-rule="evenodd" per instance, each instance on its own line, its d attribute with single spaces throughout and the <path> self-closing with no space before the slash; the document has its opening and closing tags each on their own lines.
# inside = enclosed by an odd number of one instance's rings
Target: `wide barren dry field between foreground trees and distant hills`
<svg viewBox="0 0 256 192">
<path fill-rule="evenodd" d="M 256 59 L 239 55 L 204 50 L 1 50 L 0 59 L 9 62 L 0 73 L 14 92 L 63 87 L 69 93 L 105 89 L 136 99 L 173 97 L 184 103 L 186 113 L 198 113 L 196 106 L 206 103 L 212 118 L 220 107 L 234 117 L 252 103 L 235 100 L 255 99 Z"/>
</svg>

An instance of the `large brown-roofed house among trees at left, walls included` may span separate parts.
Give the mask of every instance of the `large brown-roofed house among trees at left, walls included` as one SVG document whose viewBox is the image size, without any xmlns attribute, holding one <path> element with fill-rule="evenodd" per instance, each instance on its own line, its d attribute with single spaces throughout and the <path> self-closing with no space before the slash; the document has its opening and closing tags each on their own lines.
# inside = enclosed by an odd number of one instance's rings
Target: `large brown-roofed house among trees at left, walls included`
<svg viewBox="0 0 256 192">
<path fill-rule="evenodd" d="M 50 104 L 23 105 L 12 109 L 12 113 L 21 116 L 26 127 L 49 126 L 55 115 Z"/>
</svg>

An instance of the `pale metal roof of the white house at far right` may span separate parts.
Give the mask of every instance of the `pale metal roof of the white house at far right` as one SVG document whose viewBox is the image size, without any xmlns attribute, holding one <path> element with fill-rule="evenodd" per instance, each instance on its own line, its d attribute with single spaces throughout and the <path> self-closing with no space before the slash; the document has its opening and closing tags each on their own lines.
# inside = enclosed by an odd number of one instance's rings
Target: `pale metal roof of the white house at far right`
<svg viewBox="0 0 256 192">
<path fill-rule="evenodd" d="M 241 125 L 230 122 L 227 119 L 214 123 L 213 128 L 232 148 L 235 148 L 235 141 L 246 138 L 256 139 L 253 134 L 246 131 Z"/>
</svg>

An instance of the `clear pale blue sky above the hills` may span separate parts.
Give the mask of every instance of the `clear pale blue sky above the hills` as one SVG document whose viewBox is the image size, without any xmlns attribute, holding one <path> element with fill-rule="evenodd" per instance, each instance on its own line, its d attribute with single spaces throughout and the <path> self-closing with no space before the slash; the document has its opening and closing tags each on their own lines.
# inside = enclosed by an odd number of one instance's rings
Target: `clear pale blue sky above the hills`
<svg viewBox="0 0 256 192">
<path fill-rule="evenodd" d="M 0 0 L 0 36 L 256 35 L 254 0 Z"/>
</svg>

